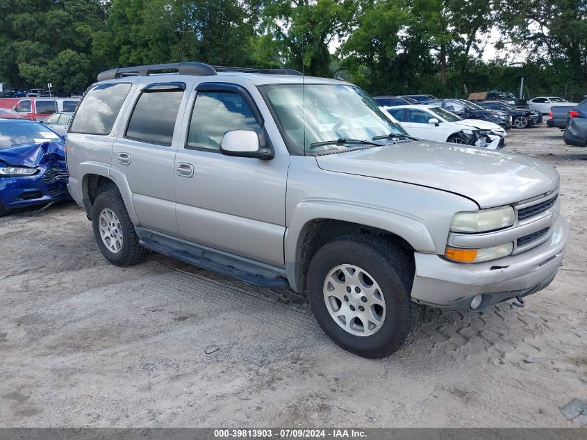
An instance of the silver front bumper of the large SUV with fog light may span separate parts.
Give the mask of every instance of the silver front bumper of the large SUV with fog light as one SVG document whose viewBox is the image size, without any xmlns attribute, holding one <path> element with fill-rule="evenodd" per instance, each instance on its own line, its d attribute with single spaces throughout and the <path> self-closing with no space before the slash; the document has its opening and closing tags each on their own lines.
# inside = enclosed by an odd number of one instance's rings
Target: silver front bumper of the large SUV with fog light
<svg viewBox="0 0 587 440">
<path fill-rule="evenodd" d="M 559 215 L 552 236 L 520 254 L 483 263 L 454 263 L 443 256 L 415 252 L 412 300 L 442 309 L 470 310 L 476 295 L 483 295 L 474 311 L 545 288 L 561 266 L 568 242 L 568 222 Z"/>
</svg>

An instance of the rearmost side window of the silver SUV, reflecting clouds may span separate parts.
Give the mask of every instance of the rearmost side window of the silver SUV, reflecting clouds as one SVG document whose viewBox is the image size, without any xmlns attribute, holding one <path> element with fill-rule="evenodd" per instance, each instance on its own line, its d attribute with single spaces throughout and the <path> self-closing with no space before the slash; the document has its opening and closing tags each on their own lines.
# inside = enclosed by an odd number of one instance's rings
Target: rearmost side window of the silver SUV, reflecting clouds
<svg viewBox="0 0 587 440">
<path fill-rule="evenodd" d="M 129 90 L 129 83 L 94 85 L 79 104 L 69 132 L 110 133 Z"/>
</svg>

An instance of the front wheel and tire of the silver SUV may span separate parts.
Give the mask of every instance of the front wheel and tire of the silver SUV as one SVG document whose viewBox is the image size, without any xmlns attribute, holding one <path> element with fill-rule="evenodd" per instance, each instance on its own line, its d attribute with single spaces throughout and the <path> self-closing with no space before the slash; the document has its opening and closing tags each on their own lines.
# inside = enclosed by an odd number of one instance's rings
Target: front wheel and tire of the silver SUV
<svg viewBox="0 0 587 440">
<path fill-rule="evenodd" d="M 410 297 L 413 277 L 413 263 L 399 248 L 363 234 L 343 236 L 313 256 L 306 277 L 308 302 L 320 327 L 337 345 L 361 357 L 388 357 L 411 341 L 417 329 L 420 309 Z M 340 298 L 345 292 L 348 295 Z M 367 306 L 367 325 L 356 317 L 363 313 L 361 304 Z M 346 313 L 349 318 L 342 318 Z M 376 315 L 379 320 L 373 318 Z"/>
</svg>

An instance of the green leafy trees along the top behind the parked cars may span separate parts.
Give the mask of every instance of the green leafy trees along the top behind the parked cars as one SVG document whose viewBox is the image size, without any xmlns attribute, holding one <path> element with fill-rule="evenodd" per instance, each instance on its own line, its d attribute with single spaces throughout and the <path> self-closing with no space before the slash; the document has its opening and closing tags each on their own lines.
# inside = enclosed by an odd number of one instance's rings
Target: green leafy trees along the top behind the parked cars
<svg viewBox="0 0 587 440">
<path fill-rule="evenodd" d="M 497 48 L 524 61 L 484 62 Z M 0 81 L 81 91 L 111 67 L 199 60 L 368 92 L 587 92 L 585 0 L 0 0 Z M 581 92 L 582 90 L 582 92 Z"/>
</svg>

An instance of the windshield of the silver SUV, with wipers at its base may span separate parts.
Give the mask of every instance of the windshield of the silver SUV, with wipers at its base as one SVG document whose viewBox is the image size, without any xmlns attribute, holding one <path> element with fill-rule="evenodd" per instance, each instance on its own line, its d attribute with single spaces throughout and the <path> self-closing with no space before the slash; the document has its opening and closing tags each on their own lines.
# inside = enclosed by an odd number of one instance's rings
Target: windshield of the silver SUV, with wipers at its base
<svg viewBox="0 0 587 440">
<path fill-rule="evenodd" d="M 280 84 L 265 85 L 260 90 L 286 142 L 299 154 L 365 146 L 357 141 L 372 142 L 377 136 L 406 136 L 371 97 L 352 85 Z M 342 142 L 318 145 L 336 140 Z"/>
</svg>

